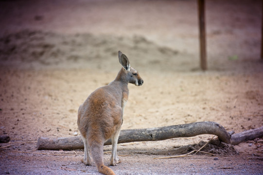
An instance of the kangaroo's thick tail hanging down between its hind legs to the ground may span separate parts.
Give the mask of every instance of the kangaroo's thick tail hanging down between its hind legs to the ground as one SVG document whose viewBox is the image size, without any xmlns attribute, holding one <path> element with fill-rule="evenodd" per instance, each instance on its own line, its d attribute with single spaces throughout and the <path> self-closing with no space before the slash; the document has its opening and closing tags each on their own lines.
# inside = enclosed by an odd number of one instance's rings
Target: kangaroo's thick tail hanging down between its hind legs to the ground
<svg viewBox="0 0 263 175">
<path fill-rule="evenodd" d="M 98 171 L 104 175 L 115 175 L 115 173 L 103 163 L 103 144 L 93 141 L 89 144 L 91 156 L 98 168 Z"/>
</svg>

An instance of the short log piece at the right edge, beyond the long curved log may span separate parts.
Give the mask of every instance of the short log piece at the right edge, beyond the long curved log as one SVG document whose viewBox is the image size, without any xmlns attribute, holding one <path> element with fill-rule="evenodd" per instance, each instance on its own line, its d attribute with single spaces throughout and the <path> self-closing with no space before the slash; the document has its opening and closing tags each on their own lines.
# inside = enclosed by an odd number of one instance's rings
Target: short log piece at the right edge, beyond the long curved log
<svg viewBox="0 0 263 175">
<path fill-rule="evenodd" d="M 249 129 L 241 133 L 233 134 L 231 137 L 231 144 L 237 145 L 247 140 L 254 140 L 263 137 L 263 126 L 256 129 Z"/>
</svg>

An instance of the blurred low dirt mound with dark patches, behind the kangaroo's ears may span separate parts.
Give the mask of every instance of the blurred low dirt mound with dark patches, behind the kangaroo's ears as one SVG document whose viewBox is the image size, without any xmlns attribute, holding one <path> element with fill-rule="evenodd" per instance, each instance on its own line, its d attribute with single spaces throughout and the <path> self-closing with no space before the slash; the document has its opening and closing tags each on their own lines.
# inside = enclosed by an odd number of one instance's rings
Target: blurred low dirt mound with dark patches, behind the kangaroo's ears
<svg viewBox="0 0 263 175">
<path fill-rule="evenodd" d="M 20 67 L 43 66 L 82 67 L 111 69 L 118 51 L 132 57 L 133 64 L 155 69 L 159 63 L 169 65 L 177 51 L 160 47 L 142 36 L 132 38 L 111 35 L 75 34 L 63 35 L 52 32 L 24 30 L 0 38 L 0 61 L 2 64 L 17 64 Z M 136 54 L 136 55 L 134 55 Z M 141 59 L 145 54 L 150 59 Z M 95 67 L 94 67 L 95 66 Z M 119 66 L 119 65 L 117 65 Z"/>
</svg>

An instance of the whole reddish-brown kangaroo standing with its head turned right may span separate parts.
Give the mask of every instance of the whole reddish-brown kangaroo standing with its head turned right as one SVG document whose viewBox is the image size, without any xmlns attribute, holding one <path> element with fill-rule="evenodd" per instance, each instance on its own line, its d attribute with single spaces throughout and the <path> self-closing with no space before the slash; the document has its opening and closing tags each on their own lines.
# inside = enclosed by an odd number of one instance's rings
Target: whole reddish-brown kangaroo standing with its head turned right
<svg viewBox="0 0 263 175">
<path fill-rule="evenodd" d="M 138 71 L 130 67 L 127 56 L 121 51 L 118 55 L 123 68 L 115 80 L 92 92 L 78 110 L 77 123 L 84 142 L 83 161 L 90 165 L 89 148 L 98 171 L 104 175 L 115 175 L 103 162 L 106 140 L 111 139 L 112 142 L 110 165 L 121 163 L 117 156 L 117 143 L 123 124 L 123 109 L 129 95 L 128 83 L 136 86 L 143 84 Z"/>
</svg>

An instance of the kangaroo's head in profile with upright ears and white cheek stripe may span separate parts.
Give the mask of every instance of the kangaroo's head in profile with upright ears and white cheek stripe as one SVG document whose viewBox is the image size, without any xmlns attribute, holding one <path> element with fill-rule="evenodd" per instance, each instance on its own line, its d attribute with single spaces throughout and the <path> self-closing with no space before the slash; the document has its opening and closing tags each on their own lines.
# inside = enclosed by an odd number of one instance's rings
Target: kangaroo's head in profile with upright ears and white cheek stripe
<svg viewBox="0 0 263 175">
<path fill-rule="evenodd" d="M 143 84 L 143 80 L 142 78 L 140 78 L 140 74 L 138 73 L 138 71 L 130 66 L 130 62 L 127 56 L 124 55 L 121 51 L 119 51 L 118 55 L 121 65 L 126 70 L 125 76 L 128 83 L 132 83 L 136 86 L 141 86 Z"/>
</svg>

